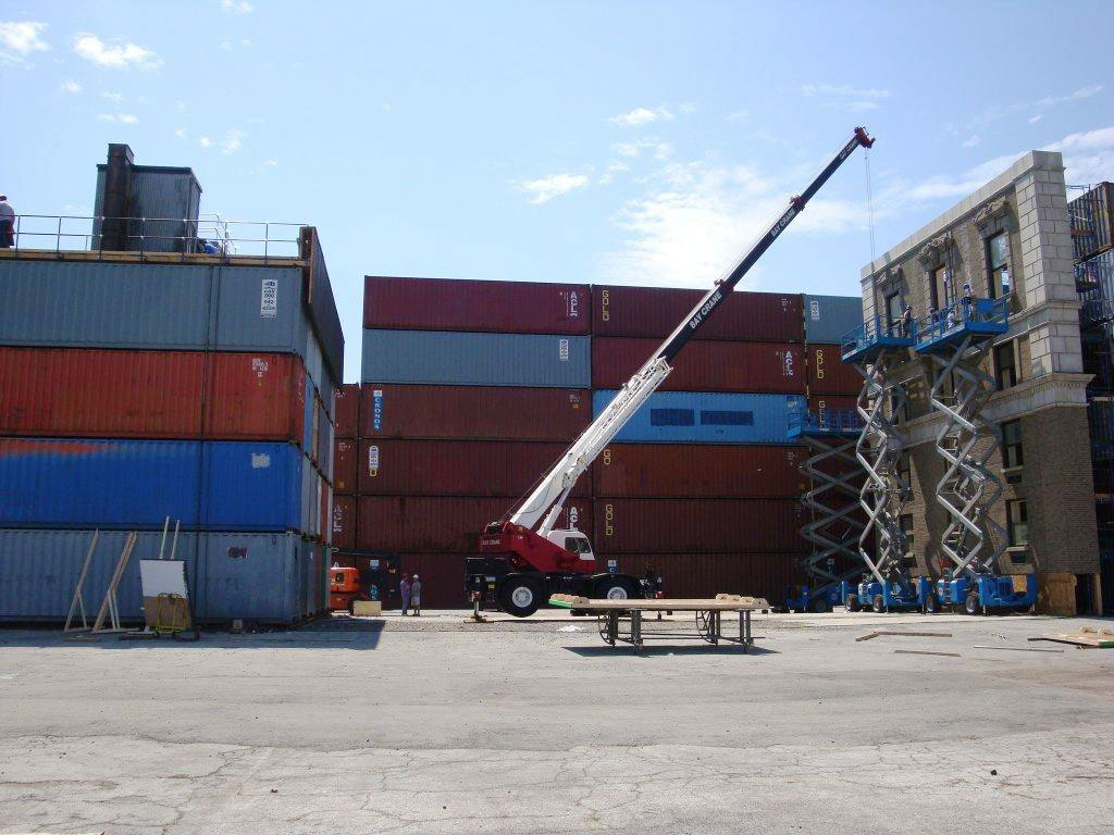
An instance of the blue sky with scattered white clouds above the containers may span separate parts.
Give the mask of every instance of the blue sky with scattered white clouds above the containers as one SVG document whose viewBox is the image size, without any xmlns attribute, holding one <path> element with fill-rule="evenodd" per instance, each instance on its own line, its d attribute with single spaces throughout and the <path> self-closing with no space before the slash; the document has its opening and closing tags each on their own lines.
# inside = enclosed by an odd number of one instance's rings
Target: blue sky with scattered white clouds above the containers
<svg viewBox="0 0 1114 835">
<path fill-rule="evenodd" d="M 359 379 L 364 274 L 705 286 L 866 125 L 883 252 L 1030 148 L 1114 178 L 1114 4 L 27 2 L 0 10 L 18 212 L 110 141 L 203 212 L 317 226 Z M 849 160 L 745 287 L 857 294 Z"/>
</svg>

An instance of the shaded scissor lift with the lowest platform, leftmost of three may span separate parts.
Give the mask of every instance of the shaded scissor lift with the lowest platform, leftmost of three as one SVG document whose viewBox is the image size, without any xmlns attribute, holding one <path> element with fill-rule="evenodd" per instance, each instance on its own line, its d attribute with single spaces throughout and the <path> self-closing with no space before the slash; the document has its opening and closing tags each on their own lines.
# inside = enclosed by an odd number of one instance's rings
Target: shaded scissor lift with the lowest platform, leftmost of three
<svg viewBox="0 0 1114 835">
<path fill-rule="evenodd" d="M 790 440 L 810 451 L 800 470 L 809 480 L 801 503 L 811 521 L 801 528 L 801 536 L 812 547 L 801 563 L 807 584 L 786 595 L 785 608 L 791 611 L 831 611 L 844 605 L 854 592 L 850 581 L 862 573 L 858 551 L 862 468 L 854 455 L 861 433 L 862 419 L 853 410 L 814 413 L 801 409 L 790 415 Z"/>
</svg>

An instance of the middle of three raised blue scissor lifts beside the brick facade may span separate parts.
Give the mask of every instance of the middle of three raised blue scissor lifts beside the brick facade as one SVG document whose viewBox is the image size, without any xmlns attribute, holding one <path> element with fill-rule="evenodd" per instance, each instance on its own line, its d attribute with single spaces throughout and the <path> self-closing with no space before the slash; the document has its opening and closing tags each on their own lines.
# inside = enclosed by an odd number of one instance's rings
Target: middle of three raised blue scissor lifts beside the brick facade
<svg viewBox="0 0 1114 835">
<path fill-rule="evenodd" d="M 859 554 L 871 574 L 846 601 L 851 611 L 867 606 L 878 612 L 920 607 L 926 599 L 927 581 L 913 580 L 906 567 L 908 541 L 901 527 L 909 485 L 900 474 L 905 444 L 897 420 L 906 389 L 896 372 L 913 344 L 911 325 L 886 324 L 874 316 L 843 337 L 843 362 L 853 363 L 864 380 L 858 403 L 864 425 L 856 444 L 856 456 L 867 471 L 859 492 L 867 517 L 859 536 Z"/>
</svg>

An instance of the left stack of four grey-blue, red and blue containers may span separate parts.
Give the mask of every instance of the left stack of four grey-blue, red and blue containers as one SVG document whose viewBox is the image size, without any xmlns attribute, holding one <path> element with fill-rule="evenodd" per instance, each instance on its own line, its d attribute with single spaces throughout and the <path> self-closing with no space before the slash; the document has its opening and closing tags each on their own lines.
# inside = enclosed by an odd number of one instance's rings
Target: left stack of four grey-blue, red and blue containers
<svg viewBox="0 0 1114 835">
<path fill-rule="evenodd" d="M 0 262 L 0 619 L 65 618 L 91 529 L 165 517 L 199 619 L 319 611 L 343 345 L 319 336 L 336 317 L 320 253 L 316 268 L 101 257 Z M 311 282 L 330 310 L 310 310 Z M 156 539 L 140 536 L 124 617 L 141 616 Z"/>
</svg>

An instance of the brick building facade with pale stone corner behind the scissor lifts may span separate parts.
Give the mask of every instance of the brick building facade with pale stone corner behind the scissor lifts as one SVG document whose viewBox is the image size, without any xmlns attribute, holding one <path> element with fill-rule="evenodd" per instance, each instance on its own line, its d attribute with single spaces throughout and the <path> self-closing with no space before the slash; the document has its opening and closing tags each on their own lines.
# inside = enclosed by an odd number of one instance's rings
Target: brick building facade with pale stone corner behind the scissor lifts
<svg viewBox="0 0 1114 835">
<path fill-rule="evenodd" d="M 906 304 L 918 320 L 945 310 L 969 283 L 977 297 L 1009 298 L 1009 331 L 994 340 L 983 370 L 995 392 L 983 416 L 1003 444 L 989 461 L 1004 492 L 984 523 L 1005 544 L 998 571 L 1036 573 L 1038 608 L 1101 611 L 1098 542 L 1079 296 L 1059 154 L 1030 151 L 975 194 L 862 268 L 863 313 L 883 323 Z M 910 569 L 938 577 L 948 515 L 936 500 L 944 459 L 936 449 L 942 416 L 928 401 L 934 371 L 910 352 L 897 376 L 908 400 L 898 415 L 911 498 L 901 518 Z M 1004 460 L 1005 458 L 1005 460 Z"/>
</svg>

